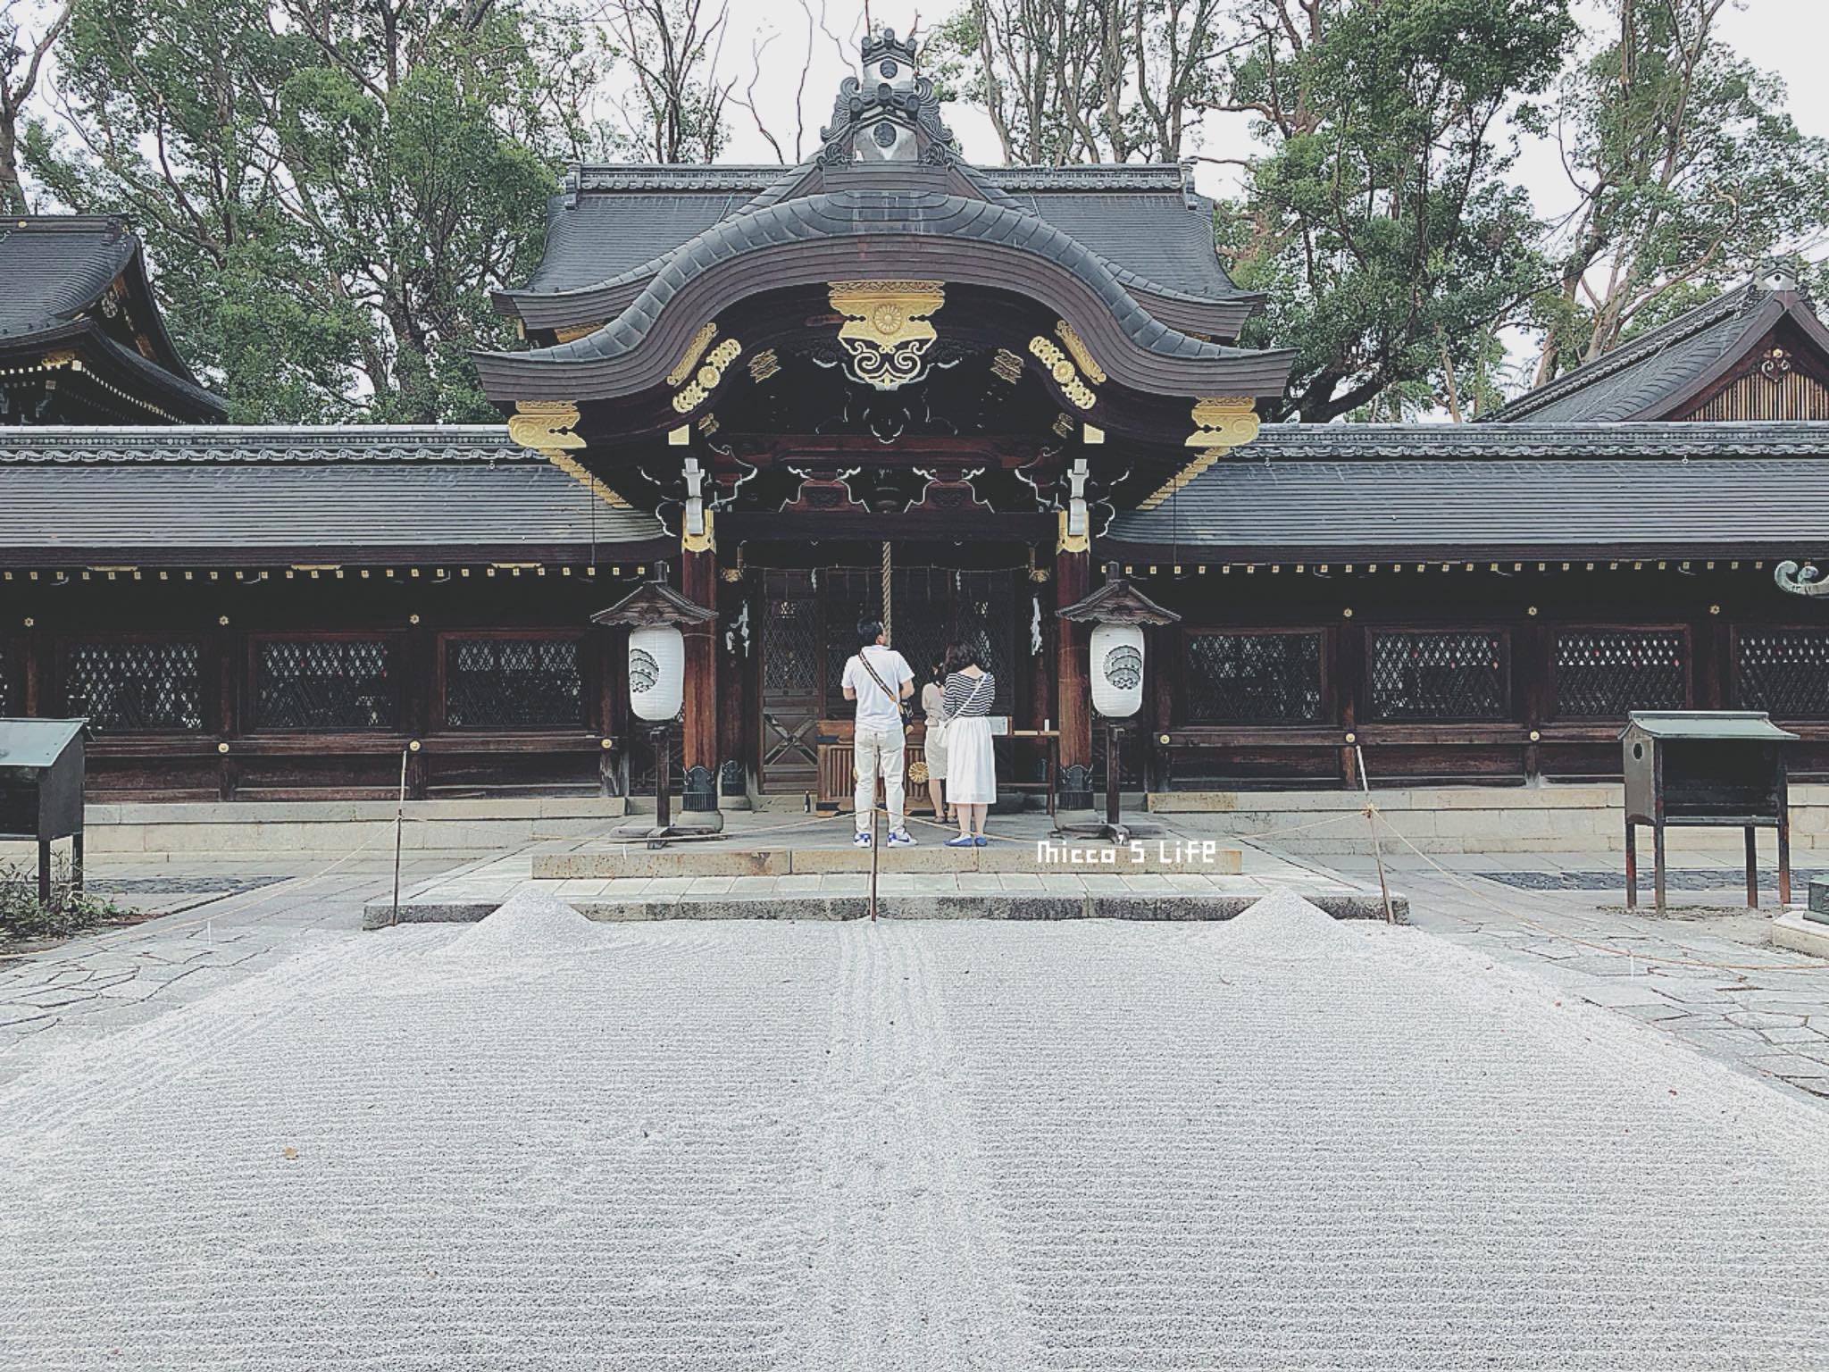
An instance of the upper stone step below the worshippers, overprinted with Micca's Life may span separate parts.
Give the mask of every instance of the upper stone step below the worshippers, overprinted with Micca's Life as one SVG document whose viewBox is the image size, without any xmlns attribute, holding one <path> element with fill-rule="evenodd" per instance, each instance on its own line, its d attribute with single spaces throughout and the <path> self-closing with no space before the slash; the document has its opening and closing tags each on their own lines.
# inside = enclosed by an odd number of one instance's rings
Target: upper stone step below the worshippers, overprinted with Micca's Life
<svg viewBox="0 0 1829 1372">
<path fill-rule="evenodd" d="M 871 851 L 854 847 L 759 847 L 739 841 L 688 841 L 669 849 L 644 843 L 593 843 L 572 852 L 536 852 L 532 874 L 545 880 L 638 876 L 805 876 L 871 871 Z M 905 873 L 1055 873 L 1061 876 L 1116 873 L 1141 876 L 1180 873 L 1236 876 L 1240 849 L 1209 840 L 1141 838 L 1130 847 L 1037 840 L 949 849 L 922 843 L 878 849 L 876 871 Z"/>
</svg>

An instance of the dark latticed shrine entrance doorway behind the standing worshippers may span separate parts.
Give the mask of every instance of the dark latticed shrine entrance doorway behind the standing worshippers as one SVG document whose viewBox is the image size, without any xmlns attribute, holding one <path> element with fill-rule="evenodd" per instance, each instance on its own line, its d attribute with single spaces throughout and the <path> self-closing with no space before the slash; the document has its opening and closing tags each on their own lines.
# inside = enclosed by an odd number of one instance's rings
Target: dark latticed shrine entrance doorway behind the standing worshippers
<svg viewBox="0 0 1829 1372">
<path fill-rule="evenodd" d="M 1019 702 L 1033 690 L 1035 587 L 1028 551 L 1000 551 L 1010 558 L 1000 567 L 947 567 L 936 556 L 957 549 L 891 547 L 889 638 L 914 670 L 916 699 L 946 646 L 964 640 L 997 673 L 993 712 L 1021 713 Z M 858 620 L 882 618 L 882 563 L 860 556 L 840 565 L 763 567 L 759 582 L 761 788 L 812 790 L 819 723 L 850 721 L 854 712 L 843 695 L 845 660 L 858 649 Z"/>
</svg>

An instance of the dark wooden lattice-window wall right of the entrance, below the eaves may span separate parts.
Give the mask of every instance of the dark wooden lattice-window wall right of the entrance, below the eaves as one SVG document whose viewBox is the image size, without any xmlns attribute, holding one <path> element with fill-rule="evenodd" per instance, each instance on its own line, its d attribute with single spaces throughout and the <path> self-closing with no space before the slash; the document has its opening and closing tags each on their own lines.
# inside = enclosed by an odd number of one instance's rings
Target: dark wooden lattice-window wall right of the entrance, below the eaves
<svg viewBox="0 0 1829 1372">
<path fill-rule="evenodd" d="M 1772 699 L 1791 702 L 1774 717 L 1803 735 L 1792 774 L 1829 776 L 1829 606 L 1780 593 L 1770 563 L 1476 567 L 1136 567 L 1147 593 L 1183 615 L 1152 631 L 1149 783 L 1355 787 L 1355 745 L 1374 785 L 1617 779 L 1628 708 Z M 1297 655 L 1295 675 L 1315 682 L 1297 708 L 1216 681 L 1216 664 L 1249 657 L 1253 635 L 1282 631 L 1313 644 Z M 1225 651 L 1203 651 L 1203 635 Z M 1461 681 L 1452 662 L 1483 657 L 1474 646 L 1491 646 L 1496 668 Z M 1438 660 L 1407 671 L 1407 653 Z M 1425 688 L 1410 690 L 1417 679 Z M 1306 717 L 1271 723 L 1278 708 Z"/>
</svg>

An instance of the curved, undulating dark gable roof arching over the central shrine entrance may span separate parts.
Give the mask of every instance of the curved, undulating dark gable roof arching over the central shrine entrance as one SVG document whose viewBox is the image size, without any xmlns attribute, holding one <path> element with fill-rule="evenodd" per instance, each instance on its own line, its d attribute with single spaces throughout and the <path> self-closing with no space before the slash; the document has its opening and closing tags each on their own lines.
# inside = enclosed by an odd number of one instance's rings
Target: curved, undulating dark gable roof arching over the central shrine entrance
<svg viewBox="0 0 1829 1372">
<path fill-rule="evenodd" d="M 496 395 L 605 399 L 655 386 L 691 333 L 733 300 L 838 278 L 911 276 L 1019 289 L 1048 302 L 1119 382 L 1169 395 L 1280 395 L 1293 353 L 1225 348 L 1154 318 L 1097 252 L 1008 199 L 935 188 L 927 168 L 779 199 L 671 252 L 594 333 L 479 353 Z M 940 183 L 944 185 L 944 181 Z"/>
</svg>

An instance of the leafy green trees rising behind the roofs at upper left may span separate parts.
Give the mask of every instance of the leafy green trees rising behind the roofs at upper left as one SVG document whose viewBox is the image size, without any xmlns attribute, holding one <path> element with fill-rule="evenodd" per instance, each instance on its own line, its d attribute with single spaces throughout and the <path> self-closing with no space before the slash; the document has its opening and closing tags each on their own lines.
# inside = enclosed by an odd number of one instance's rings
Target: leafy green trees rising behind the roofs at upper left
<svg viewBox="0 0 1829 1372">
<path fill-rule="evenodd" d="M 134 216 L 236 419 L 492 417 L 470 348 L 507 342 L 488 291 L 538 258 L 593 60 L 494 0 L 77 0 L 27 165 Z"/>
</svg>

